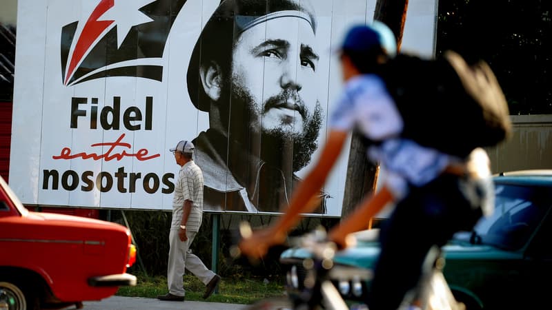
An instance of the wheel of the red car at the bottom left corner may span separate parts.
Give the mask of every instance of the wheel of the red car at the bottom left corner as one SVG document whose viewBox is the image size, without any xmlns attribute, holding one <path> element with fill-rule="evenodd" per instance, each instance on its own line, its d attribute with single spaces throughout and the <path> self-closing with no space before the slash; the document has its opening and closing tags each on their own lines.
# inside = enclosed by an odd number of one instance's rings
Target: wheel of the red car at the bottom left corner
<svg viewBox="0 0 552 310">
<path fill-rule="evenodd" d="M 36 294 L 17 285 L 17 282 L 0 280 L 0 309 L 35 310 L 40 309 Z"/>
</svg>

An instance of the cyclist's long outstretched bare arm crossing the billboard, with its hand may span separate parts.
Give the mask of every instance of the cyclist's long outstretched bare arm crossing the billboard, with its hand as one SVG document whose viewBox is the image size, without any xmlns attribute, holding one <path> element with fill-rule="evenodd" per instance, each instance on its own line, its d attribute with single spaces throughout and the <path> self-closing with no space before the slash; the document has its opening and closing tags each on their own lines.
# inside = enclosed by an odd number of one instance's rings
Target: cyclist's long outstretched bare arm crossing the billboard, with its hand
<svg viewBox="0 0 552 310">
<path fill-rule="evenodd" d="M 285 213 L 272 226 L 255 231 L 253 236 L 244 238 L 239 245 L 242 253 L 251 257 L 264 256 L 268 247 L 284 242 L 287 232 L 299 222 L 299 214 L 315 209 L 316 196 L 341 154 L 347 135 L 347 132 L 337 130 L 332 130 L 328 134 L 322 154 L 306 178 L 299 183 Z"/>
</svg>

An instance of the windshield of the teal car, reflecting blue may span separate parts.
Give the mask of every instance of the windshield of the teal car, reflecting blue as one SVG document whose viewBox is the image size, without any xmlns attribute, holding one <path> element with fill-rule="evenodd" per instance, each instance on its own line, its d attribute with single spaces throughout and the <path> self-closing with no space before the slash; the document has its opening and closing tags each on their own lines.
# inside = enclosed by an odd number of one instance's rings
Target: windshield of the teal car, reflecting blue
<svg viewBox="0 0 552 310">
<path fill-rule="evenodd" d="M 475 225 L 475 242 L 520 249 L 552 206 L 551 187 L 496 183 L 495 191 L 495 210 Z"/>
</svg>

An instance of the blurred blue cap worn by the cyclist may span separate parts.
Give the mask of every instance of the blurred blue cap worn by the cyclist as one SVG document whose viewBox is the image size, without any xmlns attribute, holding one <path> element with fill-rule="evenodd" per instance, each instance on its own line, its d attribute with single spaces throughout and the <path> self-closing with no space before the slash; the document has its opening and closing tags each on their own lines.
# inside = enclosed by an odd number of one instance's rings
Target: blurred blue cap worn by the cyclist
<svg viewBox="0 0 552 310">
<path fill-rule="evenodd" d="M 348 30 L 341 50 L 364 52 L 375 46 L 381 46 L 389 56 L 395 56 L 397 42 L 391 29 L 380 21 L 371 25 L 355 25 Z"/>
</svg>

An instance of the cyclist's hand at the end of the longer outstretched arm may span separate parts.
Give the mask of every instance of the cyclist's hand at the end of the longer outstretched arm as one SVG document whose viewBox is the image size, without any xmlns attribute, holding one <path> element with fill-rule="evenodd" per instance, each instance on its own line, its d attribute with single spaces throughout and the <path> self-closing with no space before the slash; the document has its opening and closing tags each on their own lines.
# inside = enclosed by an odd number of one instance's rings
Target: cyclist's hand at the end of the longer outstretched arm
<svg viewBox="0 0 552 310">
<path fill-rule="evenodd" d="M 250 236 L 242 236 L 242 241 L 239 242 L 242 254 L 250 258 L 262 258 L 270 247 L 284 243 L 285 237 L 282 238 L 273 230 L 269 227 L 252 231 Z"/>
</svg>

